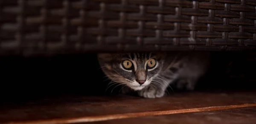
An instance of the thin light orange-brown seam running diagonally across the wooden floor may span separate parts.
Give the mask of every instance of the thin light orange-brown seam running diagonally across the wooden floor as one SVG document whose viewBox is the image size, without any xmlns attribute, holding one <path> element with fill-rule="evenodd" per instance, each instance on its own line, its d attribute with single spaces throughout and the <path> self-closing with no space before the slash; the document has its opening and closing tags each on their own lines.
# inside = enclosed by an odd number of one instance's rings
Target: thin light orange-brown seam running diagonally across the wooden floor
<svg viewBox="0 0 256 124">
<path fill-rule="evenodd" d="M 140 113 L 124 113 L 124 114 L 113 114 L 105 116 L 85 116 L 78 118 L 62 118 L 62 119 L 50 119 L 50 120 L 38 120 L 38 121 L 12 121 L 3 124 L 71 124 L 71 123 L 82 123 L 82 122 L 94 122 L 94 121 L 107 121 L 113 119 L 122 118 L 136 118 L 142 116 L 160 116 L 160 115 L 170 115 L 177 113 L 194 113 L 194 112 L 204 112 L 213 110 L 226 110 L 239 107 L 256 107 L 256 103 L 253 104 L 238 104 L 238 105 L 227 105 L 227 106 L 212 106 L 212 107 L 200 107 L 191 109 L 181 109 L 181 110 L 166 110 L 166 111 L 152 111 L 152 112 L 140 112 Z"/>
</svg>

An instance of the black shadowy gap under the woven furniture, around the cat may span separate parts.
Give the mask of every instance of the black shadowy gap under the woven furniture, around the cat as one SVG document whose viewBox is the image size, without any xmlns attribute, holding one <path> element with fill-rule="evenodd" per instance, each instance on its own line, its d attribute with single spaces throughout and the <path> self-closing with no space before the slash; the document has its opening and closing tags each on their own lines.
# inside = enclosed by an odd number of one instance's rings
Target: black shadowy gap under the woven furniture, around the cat
<svg viewBox="0 0 256 124">
<path fill-rule="evenodd" d="M 254 53 L 212 52 L 212 65 L 196 90 L 255 90 L 255 62 Z M 120 89 L 111 92 L 114 85 L 105 92 L 110 81 L 104 78 L 96 54 L 1 57 L 0 70 L 2 104 L 65 95 L 114 95 Z M 173 89 L 174 93 L 184 92 Z"/>
</svg>

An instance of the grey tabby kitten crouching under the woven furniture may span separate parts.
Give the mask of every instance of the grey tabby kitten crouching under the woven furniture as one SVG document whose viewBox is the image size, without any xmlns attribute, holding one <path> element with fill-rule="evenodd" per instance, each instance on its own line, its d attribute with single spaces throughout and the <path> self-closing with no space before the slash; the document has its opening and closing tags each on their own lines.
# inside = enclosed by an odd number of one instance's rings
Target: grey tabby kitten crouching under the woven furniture
<svg viewBox="0 0 256 124">
<path fill-rule="evenodd" d="M 105 75 L 144 98 L 160 98 L 170 84 L 194 90 L 209 67 L 208 52 L 99 53 Z"/>
</svg>

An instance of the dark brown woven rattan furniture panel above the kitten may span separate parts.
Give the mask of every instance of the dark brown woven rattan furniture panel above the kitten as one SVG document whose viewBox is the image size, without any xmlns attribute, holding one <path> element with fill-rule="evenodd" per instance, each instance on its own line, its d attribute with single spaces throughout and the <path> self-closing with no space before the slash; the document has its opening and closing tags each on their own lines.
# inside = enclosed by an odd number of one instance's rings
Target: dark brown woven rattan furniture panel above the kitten
<svg viewBox="0 0 256 124">
<path fill-rule="evenodd" d="M 245 51 L 256 0 L 0 0 L 0 54 Z"/>
</svg>

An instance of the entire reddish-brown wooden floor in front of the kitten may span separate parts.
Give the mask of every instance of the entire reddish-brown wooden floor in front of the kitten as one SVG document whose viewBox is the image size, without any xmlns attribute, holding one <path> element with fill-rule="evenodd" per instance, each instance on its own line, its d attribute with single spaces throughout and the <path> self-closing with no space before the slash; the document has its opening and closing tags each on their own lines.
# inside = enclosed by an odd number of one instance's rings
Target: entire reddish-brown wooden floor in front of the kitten
<svg viewBox="0 0 256 124">
<path fill-rule="evenodd" d="M 0 106 L 0 124 L 253 124 L 256 92 L 59 96 Z"/>
</svg>

